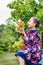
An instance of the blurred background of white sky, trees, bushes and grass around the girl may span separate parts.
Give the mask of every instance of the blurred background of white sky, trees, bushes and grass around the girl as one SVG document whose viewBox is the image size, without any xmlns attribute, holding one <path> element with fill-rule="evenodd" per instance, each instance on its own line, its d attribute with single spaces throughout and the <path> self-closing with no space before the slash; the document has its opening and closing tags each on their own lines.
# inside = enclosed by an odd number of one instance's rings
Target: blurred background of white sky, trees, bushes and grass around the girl
<svg viewBox="0 0 43 65">
<path fill-rule="evenodd" d="M 32 16 L 40 20 L 39 31 L 42 44 L 43 0 L 0 0 L 0 65 L 19 65 L 14 56 L 15 52 L 20 50 L 19 41 L 23 39 L 23 36 L 18 34 L 18 19 L 24 22 L 25 30 L 28 29 L 27 22 Z"/>
</svg>

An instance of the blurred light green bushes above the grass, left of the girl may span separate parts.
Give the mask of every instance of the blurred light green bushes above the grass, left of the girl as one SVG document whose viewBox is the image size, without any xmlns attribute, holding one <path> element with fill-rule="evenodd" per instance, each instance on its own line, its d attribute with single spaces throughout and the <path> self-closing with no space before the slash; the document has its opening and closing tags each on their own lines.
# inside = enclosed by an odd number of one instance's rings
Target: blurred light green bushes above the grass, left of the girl
<svg viewBox="0 0 43 65">
<path fill-rule="evenodd" d="M 2 35 L 0 38 L 0 51 L 17 51 L 18 47 L 15 50 L 13 47 L 15 41 L 18 41 L 18 38 L 20 37 L 18 36 L 17 27 L 14 24 L 8 22 L 8 24 L 5 25 L 3 32 L 1 33 Z"/>
</svg>

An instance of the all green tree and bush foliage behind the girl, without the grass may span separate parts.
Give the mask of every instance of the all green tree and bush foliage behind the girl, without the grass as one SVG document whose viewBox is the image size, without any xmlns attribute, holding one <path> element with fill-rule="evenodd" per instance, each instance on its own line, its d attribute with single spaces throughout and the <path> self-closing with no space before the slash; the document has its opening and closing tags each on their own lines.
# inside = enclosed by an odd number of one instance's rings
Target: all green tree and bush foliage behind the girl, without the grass
<svg viewBox="0 0 43 65">
<path fill-rule="evenodd" d="M 23 39 L 20 37 L 17 30 L 17 22 L 20 18 L 24 22 L 24 29 L 27 29 L 27 23 L 33 16 L 39 18 L 41 26 L 40 33 L 43 31 L 43 0 L 36 3 L 35 0 L 14 0 L 7 5 L 11 9 L 11 16 L 6 20 L 7 25 L 0 26 L 0 49 L 18 51 L 18 47 L 14 44 L 15 41 Z M 17 43 L 16 43 L 17 44 Z M 13 47 L 14 45 L 14 47 Z M 16 49 L 15 49 L 16 48 Z"/>
</svg>

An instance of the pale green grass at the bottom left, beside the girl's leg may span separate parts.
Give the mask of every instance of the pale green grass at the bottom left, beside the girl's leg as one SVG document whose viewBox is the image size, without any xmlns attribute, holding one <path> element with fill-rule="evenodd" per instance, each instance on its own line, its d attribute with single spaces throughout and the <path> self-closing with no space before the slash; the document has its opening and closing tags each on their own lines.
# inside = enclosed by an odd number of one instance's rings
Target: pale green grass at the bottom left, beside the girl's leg
<svg viewBox="0 0 43 65">
<path fill-rule="evenodd" d="M 3 52 L 0 53 L 0 65 L 19 65 L 14 53 Z"/>
</svg>

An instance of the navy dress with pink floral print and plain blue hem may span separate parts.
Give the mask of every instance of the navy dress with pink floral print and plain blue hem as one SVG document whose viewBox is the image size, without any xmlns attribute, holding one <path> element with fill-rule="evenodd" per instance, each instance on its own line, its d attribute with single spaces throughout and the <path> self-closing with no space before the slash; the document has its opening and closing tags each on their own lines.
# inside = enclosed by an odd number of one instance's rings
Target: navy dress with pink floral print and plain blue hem
<svg viewBox="0 0 43 65">
<path fill-rule="evenodd" d="M 27 63 L 31 65 L 39 65 L 42 59 L 42 46 L 40 43 L 40 33 L 38 30 L 25 30 L 26 37 L 24 37 L 24 43 L 26 48 L 20 50 L 15 54 L 23 58 Z"/>
</svg>

